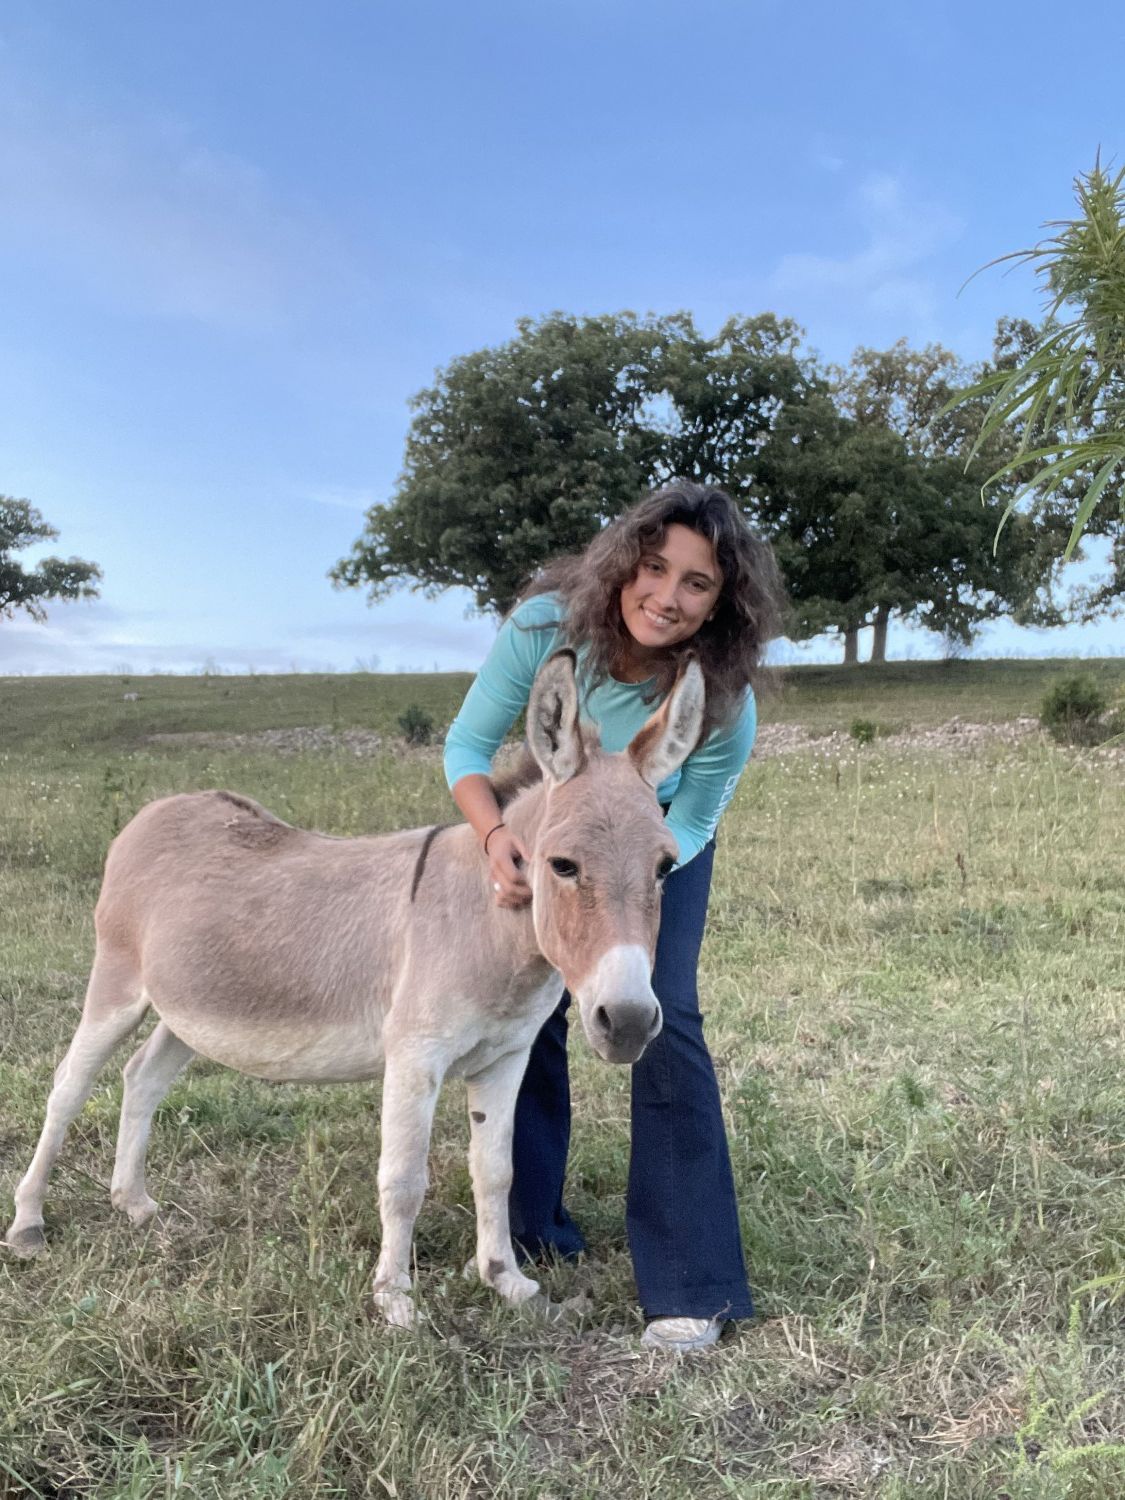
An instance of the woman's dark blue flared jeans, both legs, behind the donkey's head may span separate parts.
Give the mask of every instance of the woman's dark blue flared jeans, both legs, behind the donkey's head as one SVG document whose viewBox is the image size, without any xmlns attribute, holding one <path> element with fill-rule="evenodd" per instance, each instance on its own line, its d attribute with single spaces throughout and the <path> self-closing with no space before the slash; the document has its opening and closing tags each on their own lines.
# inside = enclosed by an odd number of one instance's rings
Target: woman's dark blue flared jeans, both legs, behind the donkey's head
<svg viewBox="0 0 1125 1500">
<path fill-rule="evenodd" d="M 750 1317 L 718 1084 L 704 1040 L 696 966 L 714 840 L 664 885 L 652 988 L 664 1024 L 633 1065 L 626 1226 L 645 1317 Z M 585 1250 L 562 1206 L 570 1148 L 567 1006 L 536 1038 L 516 1102 L 512 1236 L 530 1256 Z"/>
</svg>

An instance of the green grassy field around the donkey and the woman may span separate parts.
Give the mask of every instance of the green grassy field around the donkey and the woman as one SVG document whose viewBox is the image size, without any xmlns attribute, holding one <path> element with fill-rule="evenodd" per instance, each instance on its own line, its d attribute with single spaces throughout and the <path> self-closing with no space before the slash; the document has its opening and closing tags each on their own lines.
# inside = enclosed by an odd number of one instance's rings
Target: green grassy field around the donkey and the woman
<svg viewBox="0 0 1125 1500">
<path fill-rule="evenodd" d="M 1082 663 L 1114 692 L 1125 663 Z M 1035 712 L 1065 663 L 804 669 L 764 717 L 824 732 Z M 338 834 L 446 820 L 456 676 L 0 680 L 0 1215 L 76 1022 L 105 848 L 152 796 L 230 786 Z M 124 693 L 136 692 L 136 700 Z M 324 724 L 372 754 L 207 734 Z M 196 738 L 152 741 L 150 735 Z M 1125 770 L 1030 738 L 876 740 L 752 766 L 702 981 L 759 1316 L 642 1352 L 627 1084 L 573 1047 L 568 1322 L 496 1306 L 462 1086 L 418 1224 L 417 1330 L 366 1316 L 378 1090 L 196 1065 L 158 1114 L 146 1230 L 108 1202 L 106 1070 L 0 1257 L 0 1496 L 1125 1496 Z M 122 1059 L 123 1060 L 123 1059 Z"/>
</svg>

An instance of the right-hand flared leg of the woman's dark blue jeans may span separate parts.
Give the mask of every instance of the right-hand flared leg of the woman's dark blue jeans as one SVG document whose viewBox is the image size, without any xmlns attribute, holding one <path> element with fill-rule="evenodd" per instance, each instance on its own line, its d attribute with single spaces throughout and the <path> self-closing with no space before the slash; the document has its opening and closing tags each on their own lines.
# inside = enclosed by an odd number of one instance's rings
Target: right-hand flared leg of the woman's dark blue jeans
<svg viewBox="0 0 1125 1500">
<path fill-rule="evenodd" d="M 730 1154 L 696 964 L 714 840 L 664 886 L 652 987 L 664 1026 L 633 1066 L 627 1226 L 646 1317 L 748 1317 Z"/>
</svg>

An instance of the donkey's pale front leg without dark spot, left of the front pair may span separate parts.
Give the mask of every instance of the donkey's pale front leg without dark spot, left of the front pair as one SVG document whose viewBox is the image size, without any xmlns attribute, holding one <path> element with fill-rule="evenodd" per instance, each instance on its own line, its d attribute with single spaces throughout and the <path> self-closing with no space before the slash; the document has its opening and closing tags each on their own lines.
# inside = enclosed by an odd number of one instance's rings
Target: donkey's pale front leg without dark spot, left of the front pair
<svg viewBox="0 0 1125 1500">
<path fill-rule="evenodd" d="M 442 1070 L 444 1071 L 444 1070 Z M 387 1053 L 382 1080 L 380 1218 L 382 1244 L 375 1268 L 375 1306 L 388 1323 L 410 1328 L 410 1251 L 414 1221 L 426 1196 L 426 1158 L 441 1072 L 416 1056 Z"/>
</svg>

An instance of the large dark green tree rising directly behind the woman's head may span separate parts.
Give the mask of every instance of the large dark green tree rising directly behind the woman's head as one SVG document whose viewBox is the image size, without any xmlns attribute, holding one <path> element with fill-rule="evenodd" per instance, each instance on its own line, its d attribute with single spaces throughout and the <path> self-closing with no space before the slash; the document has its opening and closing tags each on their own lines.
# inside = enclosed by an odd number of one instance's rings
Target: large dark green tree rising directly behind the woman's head
<svg viewBox="0 0 1125 1500">
<path fill-rule="evenodd" d="M 471 590 L 502 612 L 650 486 L 738 489 L 780 406 L 802 399 L 800 330 L 771 315 L 705 339 L 687 314 L 524 320 L 414 400 L 402 477 L 368 512 L 340 586 Z"/>
</svg>

